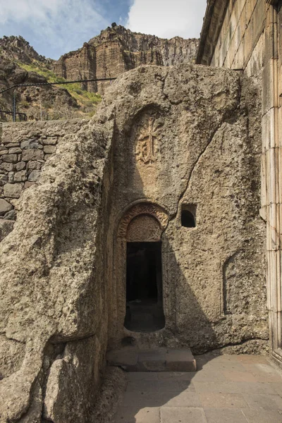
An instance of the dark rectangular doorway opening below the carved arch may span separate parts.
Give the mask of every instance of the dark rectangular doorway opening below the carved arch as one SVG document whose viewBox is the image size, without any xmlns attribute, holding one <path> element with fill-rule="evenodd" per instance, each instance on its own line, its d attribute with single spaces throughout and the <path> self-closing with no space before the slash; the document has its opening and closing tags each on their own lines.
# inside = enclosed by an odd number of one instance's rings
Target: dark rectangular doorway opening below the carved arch
<svg viewBox="0 0 282 423">
<path fill-rule="evenodd" d="M 127 243 L 124 326 L 137 332 L 164 328 L 161 243 Z"/>
</svg>

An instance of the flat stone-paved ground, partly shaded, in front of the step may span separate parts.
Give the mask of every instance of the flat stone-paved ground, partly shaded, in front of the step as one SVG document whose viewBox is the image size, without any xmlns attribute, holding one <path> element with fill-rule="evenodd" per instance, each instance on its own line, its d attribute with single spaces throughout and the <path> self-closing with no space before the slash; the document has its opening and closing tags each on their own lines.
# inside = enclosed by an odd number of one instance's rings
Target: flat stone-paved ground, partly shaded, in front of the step
<svg viewBox="0 0 282 423">
<path fill-rule="evenodd" d="M 198 372 L 128 372 L 115 423 L 279 423 L 282 372 L 252 355 L 198 356 Z"/>
</svg>

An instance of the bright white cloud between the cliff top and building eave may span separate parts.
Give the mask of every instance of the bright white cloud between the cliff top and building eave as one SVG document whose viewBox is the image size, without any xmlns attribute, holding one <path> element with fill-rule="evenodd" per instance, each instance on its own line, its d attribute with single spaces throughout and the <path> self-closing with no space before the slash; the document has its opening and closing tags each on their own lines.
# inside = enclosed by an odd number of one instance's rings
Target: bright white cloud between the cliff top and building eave
<svg viewBox="0 0 282 423">
<path fill-rule="evenodd" d="M 126 26 L 163 38 L 197 38 L 206 6 L 207 0 L 134 0 Z"/>
</svg>

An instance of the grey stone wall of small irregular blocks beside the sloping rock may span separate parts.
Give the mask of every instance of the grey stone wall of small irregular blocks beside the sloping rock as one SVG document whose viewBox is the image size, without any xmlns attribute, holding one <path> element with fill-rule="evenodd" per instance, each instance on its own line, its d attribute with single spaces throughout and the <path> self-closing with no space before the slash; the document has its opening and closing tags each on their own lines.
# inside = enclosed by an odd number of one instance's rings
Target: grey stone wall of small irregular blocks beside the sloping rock
<svg viewBox="0 0 282 423">
<path fill-rule="evenodd" d="M 87 120 L 2 123 L 0 126 L 0 219 L 15 220 L 18 198 L 37 183 L 42 166 L 67 133 Z"/>
</svg>

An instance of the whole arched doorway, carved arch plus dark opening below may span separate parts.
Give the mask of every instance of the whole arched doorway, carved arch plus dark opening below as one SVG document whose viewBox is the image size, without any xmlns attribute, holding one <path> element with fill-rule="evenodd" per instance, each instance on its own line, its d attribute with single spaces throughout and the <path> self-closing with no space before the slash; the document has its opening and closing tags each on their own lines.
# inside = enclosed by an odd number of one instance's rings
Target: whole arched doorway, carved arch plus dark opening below
<svg viewBox="0 0 282 423">
<path fill-rule="evenodd" d="M 152 332 L 165 326 L 161 235 L 168 216 L 161 207 L 136 204 L 121 220 L 125 266 L 126 329 Z"/>
</svg>

